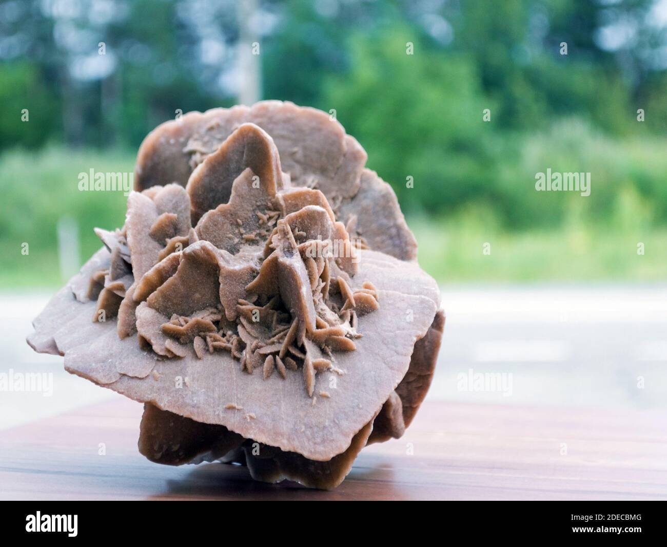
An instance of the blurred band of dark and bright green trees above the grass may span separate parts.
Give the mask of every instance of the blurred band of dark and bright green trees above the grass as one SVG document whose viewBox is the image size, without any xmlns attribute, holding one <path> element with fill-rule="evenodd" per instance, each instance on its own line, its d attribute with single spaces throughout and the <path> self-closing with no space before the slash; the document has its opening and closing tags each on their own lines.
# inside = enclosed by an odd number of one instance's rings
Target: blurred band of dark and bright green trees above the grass
<svg viewBox="0 0 667 547">
<path fill-rule="evenodd" d="M 656 0 L 256 3 L 245 24 L 261 47 L 263 98 L 335 108 L 408 210 L 474 203 L 514 226 L 558 222 L 565 205 L 526 192 L 541 168 L 531 158 L 576 170 L 588 162 L 580 150 L 614 181 L 606 188 L 664 196 L 662 180 L 639 166 L 654 147 L 628 166 L 611 161 L 610 142 L 658 142 L 667 128 L 667 17 Z M 49 140 L 135 149 L 179 112 L 233 104 L 247 59 L 236 8 L 235 0 L 0 0 L 0 149 Z M 23 108 L 30 122 L 21 122 Z M 562 142 L 568 132 L 572 146 Z M 602 218 L 614 198 L 600 194 Z"/>
</svg>

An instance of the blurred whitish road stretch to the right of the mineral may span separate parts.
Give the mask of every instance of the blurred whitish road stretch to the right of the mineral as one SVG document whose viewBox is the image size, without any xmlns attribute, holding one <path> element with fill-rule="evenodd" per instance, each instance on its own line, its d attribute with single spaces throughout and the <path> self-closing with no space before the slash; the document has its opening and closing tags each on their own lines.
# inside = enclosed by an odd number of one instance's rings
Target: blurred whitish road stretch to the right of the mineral
<svg viewBox="0 0 667 547">
<path fill-rule="evenodd" d="M 442 299 L 447 321 L 432 397 L 667 407 L 667 286 L 444 287 Z M 461 391 L 470 369 L 473 378 L 511 374 L 511 394 Z"/>
</svg>

